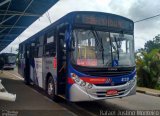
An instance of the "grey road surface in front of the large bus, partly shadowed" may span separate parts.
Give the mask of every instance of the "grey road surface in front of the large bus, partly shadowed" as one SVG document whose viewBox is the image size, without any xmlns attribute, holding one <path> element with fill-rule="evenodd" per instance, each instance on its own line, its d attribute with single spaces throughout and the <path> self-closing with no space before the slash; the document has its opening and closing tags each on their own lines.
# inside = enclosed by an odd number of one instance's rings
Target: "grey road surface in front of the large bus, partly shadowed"
<svg viewBox="0 0 160 116">
<path fill-rule="evenodd" d="M 137 93 L 134 96 L 122 99 L 116 98 L 88 103 L 82 102 L 77 103 L 77 105 L 97 115 L 100 115 L 101 111 L 160 110 L 160 97 Z"/>
</svg>

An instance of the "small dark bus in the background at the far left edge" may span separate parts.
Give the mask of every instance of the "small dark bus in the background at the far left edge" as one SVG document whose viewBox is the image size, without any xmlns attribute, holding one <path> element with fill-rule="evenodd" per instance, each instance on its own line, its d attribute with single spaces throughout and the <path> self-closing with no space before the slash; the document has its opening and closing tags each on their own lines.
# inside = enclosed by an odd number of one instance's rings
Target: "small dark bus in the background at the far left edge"
<svg viewBox="0 0 160 116">
<path fill-rule="evenodd" d="M 16 59 L 17 55 L 14 53 L 1 53 L 0 57 L 4 60 L 3 69 L 12 69 L 16 68 Z"/>
</svg>

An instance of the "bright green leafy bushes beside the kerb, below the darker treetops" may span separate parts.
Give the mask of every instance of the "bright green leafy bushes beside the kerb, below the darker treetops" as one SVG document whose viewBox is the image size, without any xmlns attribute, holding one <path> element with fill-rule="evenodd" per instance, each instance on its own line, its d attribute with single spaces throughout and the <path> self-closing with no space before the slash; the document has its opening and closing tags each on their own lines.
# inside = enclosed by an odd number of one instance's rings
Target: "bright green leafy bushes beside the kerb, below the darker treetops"
<svg viewBox="0 0 160 116">
<path fill-rule="evenodd" d="M 143 51 L 136 58 L 138 85 L 155 88 L 160 77 L 160 49 Z"/>
</svg>

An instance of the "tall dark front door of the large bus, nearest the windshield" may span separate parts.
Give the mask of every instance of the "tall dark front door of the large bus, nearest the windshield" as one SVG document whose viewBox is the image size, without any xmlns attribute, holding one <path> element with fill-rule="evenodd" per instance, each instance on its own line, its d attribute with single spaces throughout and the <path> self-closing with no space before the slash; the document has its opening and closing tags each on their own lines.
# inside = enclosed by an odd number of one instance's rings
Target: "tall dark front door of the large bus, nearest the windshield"
<svg viewBox="0 0 160 116">
<path fill-rule="evenodd" d="M 66 42 L 65 42 L 66 25 L 57 29 L 57 92 L 65 94 L 66 91 Z"/>
</svg>

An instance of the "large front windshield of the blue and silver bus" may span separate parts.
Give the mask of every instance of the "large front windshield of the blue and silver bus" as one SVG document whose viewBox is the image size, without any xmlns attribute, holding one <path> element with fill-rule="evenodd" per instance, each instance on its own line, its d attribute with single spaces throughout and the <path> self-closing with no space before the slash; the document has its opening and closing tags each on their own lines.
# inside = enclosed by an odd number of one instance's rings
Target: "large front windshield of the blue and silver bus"
<svg viewBox="0 0 160 116">
<path fill-rule="evenodd" d="M 75 29 L 72 39 L 72 63 L 76 65 L 134 66 L 133 35 Z"/>
</svg>

